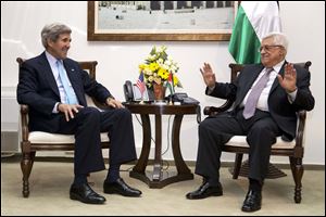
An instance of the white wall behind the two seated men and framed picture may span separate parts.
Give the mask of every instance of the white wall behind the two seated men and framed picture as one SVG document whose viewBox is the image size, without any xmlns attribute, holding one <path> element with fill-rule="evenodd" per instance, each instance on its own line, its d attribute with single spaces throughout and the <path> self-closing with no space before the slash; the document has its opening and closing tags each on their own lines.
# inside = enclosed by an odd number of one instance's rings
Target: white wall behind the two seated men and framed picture
<svg viewBox="0 0 326 217">
<path fill-rule="evenodd" d="M 325 3 L 283 2 L 280 13 L 285 34 L 290 47 L 287 60 L 302 62 L 310 60 L 311 89 L 316 100 L 314 111 L 306 120 L 305 164 L 325 164 Z M 211 63 L 220 81 L 229 79 L 228 63 L 233 62 L 227 51 L 227 41 L 87 41 L 87 2 L 3 2 L 1 1 L 1 98 L 15 97 L 18 78 L 17 56 L 32 58 L 43 51 L 40 30 L 45 24 L 62 22 L 73 29 L 70 56 L 75 60 L 97 60 L 97 78 L 120 100 L 124 100 L 123 84 L 126 79 L 136 81 L 138 64 L 143 62 L 152 46 L 166 44 L 168 54 L 179 63 L 184 89 L 198 99 L 201 106 L 218 105 L 223 101 L 204 95 L 204 84 L 199 68 L 203 62 Z M 8 91 L 8 90 L 11 91 Z M 8 108 L 10 111 L 11 108 Z M 2 114 L 1 108 L 1 114 Z M 15 114 L 15 111 L 13 112 Z M 16 115 L 17 111 L 16 111 Z M 163 120 L 166 120 L 167 117 Z M 141 146 L 141 128 L 134 122 L 136 146 Z M 166 138 L 166 124 L 163 138 Z M 185 116 L 181 125 L 181 151 L 184 158 L 196 161 L 197 124 L 195 116 Z M 163 150 L 166 146 L 163 141 Z M 139 153 L 138 153 L 139 154 Z M 172 159 L 171 150 L 163 156 Z M 234 154 L 223 154 L 224 161 L 233 161 Z M 288 162 L 286 157 L 274 162 Z"/>
</svg>

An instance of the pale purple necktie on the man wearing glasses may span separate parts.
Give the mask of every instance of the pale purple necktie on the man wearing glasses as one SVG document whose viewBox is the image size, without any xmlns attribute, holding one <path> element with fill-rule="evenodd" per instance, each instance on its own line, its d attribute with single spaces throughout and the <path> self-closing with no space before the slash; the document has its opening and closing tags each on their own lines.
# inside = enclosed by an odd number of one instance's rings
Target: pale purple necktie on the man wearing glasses
<svg viewBox="0 0 326 217">
<path fill-rule="evenodd" d="M 269 74 L 273 71 L 273 68 L 266 68 L 265 74 L 260 78 L 260 80 L 254 85 L 252 88 L 250 94 L 248 95 L 247 102 L 244 104 L 244 110 L 243 110 L 243 117 L 246 119 L 249 119 L 254 115 L 255 112 L 255 106 L 258 103 L 258 100 L 266 86 Z"/>
</svg>

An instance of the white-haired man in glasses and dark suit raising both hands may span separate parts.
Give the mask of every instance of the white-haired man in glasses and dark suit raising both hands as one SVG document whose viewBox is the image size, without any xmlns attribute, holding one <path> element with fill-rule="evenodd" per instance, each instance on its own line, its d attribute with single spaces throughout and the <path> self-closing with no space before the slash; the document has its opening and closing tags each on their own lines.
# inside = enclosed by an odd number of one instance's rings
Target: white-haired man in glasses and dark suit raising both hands
<svg viewBox="0 0 326 217">
<path fill-rule="evenodd" d="M 235 85 L 216 82 L 210 64 L 205 63 L 200 69 L 208 86 L 206 94 L 235 99 L 235 103 L 230 112 L 209 117 L 200 124 L 196 174 L 203 177 L 203 183 L 189 192 L 187 199 L 223 194 L 218 171 L 221 148 L 233 136 L 247 136 L 249 190 L 241 209 L 254 212 L 261 208 L 271 146 L 278 136 L 292 140 L 297 128 L 296 112 L 314 107 L 309 89 L 310 73 L 285 61 L 287 47 L 285 35 L 265 36 L 260 48 L 262 63 L 246 66 Z"/>
</svg>

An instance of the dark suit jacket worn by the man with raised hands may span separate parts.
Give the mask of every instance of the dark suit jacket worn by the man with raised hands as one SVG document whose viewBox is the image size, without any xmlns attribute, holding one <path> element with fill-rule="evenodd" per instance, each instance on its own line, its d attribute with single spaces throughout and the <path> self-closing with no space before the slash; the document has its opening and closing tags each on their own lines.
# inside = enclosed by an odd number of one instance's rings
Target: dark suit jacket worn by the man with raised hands
<svg viewBox="0 0 326 217">
<path fill-rule="evenodd" d="M 285 64 L 279 72 L 283 76 Z M 216 87 L 210 95 L 222 99 L 235 99 L 234 112 L 236 112 L 263 68 L 264 66 L 262 64 L 247 65 L 238 76 L 235 84 L 216 82 Z M 296 137 L 296 112 L 299 110 L 311 111 L 315 104 L 314 98 L 309 89 L 310 72 L 301 67 L 296 67 L 296 69 L 298 92 L 292 104 L 289 102 L 288 94 L 285 89 L 280 87 L 277 78 L 274 80 L 268 95 L 268 108 L 271 116 L 277 123 L 283 132 L 288 138 L 290 137 L 289 139 Z"/>
</svg>

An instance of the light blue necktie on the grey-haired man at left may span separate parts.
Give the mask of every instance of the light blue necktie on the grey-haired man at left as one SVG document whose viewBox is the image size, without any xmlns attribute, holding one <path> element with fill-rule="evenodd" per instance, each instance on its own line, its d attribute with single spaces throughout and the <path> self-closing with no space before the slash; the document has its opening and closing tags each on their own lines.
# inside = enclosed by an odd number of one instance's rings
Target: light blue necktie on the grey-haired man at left
<svg viewBox="0 0 326 217">
<path fill-rule="evenodd" d="M 76 94 L 74 93 L 73 87 L 70 86 L 70 81 L 66 75 L 66 72 L 61 63 L 61 61 L 57 61 L 57 67 L 59 72 L 59 78 L 63 85 L 65 97 L 66 97 L 66 103 L 67 104 L 78 104 Z"/>
</svg>

